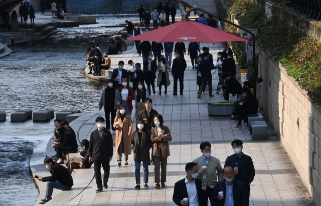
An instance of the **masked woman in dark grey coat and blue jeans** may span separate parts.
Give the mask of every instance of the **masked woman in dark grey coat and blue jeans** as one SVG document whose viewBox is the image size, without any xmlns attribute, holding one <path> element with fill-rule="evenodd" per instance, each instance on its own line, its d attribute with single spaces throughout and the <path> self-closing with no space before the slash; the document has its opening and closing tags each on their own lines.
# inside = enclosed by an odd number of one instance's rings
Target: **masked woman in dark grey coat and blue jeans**
<svg viewBox="0 0 321 206">
<path fill-rule="evenodd" d="M 131 134 L 130 146 L 134 153 L 136 189 L 140 189 L 140 164 L 144 168 L 144 187 L 148 187 L 149 150 L 152 147 L 150 133 L 143 119 L 138 119 L 136 131 Z"/>
</svg>

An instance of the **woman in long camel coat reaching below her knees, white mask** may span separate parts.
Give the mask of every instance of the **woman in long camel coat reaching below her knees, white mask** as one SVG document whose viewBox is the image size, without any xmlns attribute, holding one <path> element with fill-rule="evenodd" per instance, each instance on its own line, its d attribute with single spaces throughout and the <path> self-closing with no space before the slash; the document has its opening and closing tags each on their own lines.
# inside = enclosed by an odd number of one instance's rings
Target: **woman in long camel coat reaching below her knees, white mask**
<svg viewBox="0 0 321 206">
<path fill-rule="evenodd" d="M 115 117 L 114 125 L 116 128 L 115 146 L 117 151 L 118 166 L 121 165 L 121 156 L 124 153 L 125 165 L 128 164 L 128 155 L 131 154 L 131 131 L 132 121 L 131 117 L 126 114 L 126 107 L 121 104 L 119 106 L 118 115 Z"/>
</svg>

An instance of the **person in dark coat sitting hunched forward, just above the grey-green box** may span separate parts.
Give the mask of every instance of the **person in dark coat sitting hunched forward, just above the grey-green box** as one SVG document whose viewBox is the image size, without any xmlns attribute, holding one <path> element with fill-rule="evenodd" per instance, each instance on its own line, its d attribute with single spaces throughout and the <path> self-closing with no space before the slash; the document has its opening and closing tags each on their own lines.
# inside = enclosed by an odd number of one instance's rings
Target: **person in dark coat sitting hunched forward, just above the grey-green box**
<svg viewBox="0 0 321 206">
<path fill-rule="evenodd" d="M 223 74 L 222 79 L 225 81 L 224 85 L 220 85 L 224 91 L 224 99 L 229 101 L 230 94 L 241 94 L 242 85 L 234 78 L 230 77 L 229 74 Z"/>
</svg>

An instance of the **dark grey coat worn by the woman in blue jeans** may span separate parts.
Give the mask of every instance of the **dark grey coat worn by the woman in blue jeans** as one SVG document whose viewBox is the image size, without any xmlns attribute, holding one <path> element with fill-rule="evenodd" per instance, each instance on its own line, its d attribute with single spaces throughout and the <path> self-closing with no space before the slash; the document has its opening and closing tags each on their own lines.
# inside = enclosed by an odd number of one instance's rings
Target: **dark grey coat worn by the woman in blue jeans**
<svg viewBox="0 0 321 206">
<path fill-rule="evenodd" d="M 130 146 L 134 153 L 134 161 L 148 160 L 149 150 L 152 147 L 149 132 L 142 132 L 141 142 L 139 141 L 138 131 L 131 133 Z"/>
</svg>

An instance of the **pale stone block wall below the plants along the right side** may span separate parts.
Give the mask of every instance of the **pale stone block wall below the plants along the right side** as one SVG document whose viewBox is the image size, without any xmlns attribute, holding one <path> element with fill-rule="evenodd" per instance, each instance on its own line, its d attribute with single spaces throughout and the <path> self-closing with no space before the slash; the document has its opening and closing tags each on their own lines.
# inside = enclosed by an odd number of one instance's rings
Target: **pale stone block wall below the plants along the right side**
<svg viewBox="0 0 321 206">
<path fill-rule="evenodd" d="M 259 46 L 257 98 L 316 205 L 321 205 L 321 113 Z"/>
</svg>

